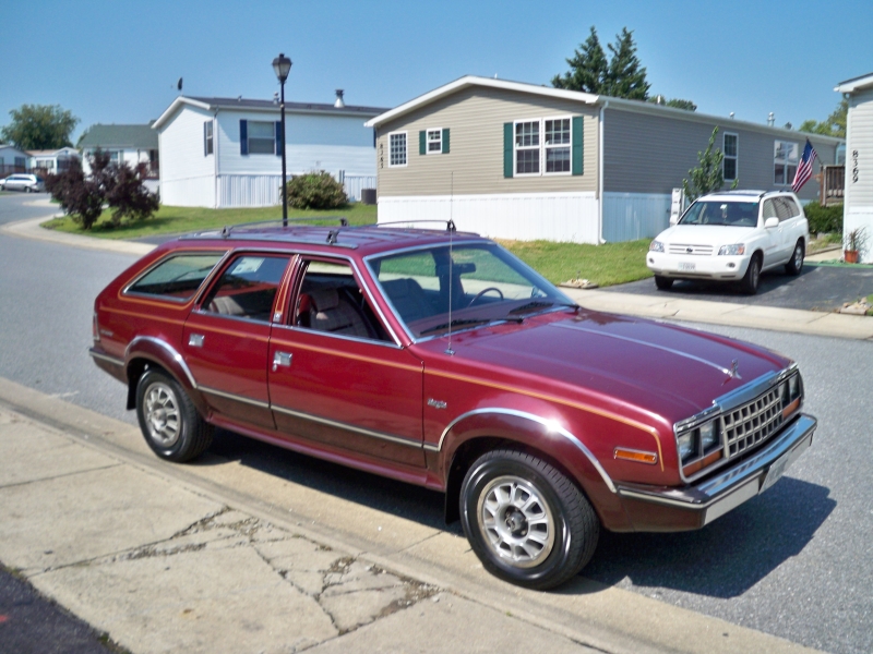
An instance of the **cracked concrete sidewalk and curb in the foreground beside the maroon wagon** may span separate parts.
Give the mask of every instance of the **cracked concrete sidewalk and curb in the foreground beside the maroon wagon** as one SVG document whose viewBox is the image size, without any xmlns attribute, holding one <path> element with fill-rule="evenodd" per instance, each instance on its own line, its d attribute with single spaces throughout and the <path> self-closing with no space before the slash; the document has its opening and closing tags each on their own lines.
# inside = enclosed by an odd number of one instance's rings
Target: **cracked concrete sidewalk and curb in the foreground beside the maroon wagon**
<svg viewBox="0 0 873 654">
<path fill-rule="evenodd" d="M 451 531 L 208 452 L 160 461 L 2 378 L 0 461 L 0 560 L 136 654 L 811 652 L 584 578 L 509 585 Z"/>
</svg>

